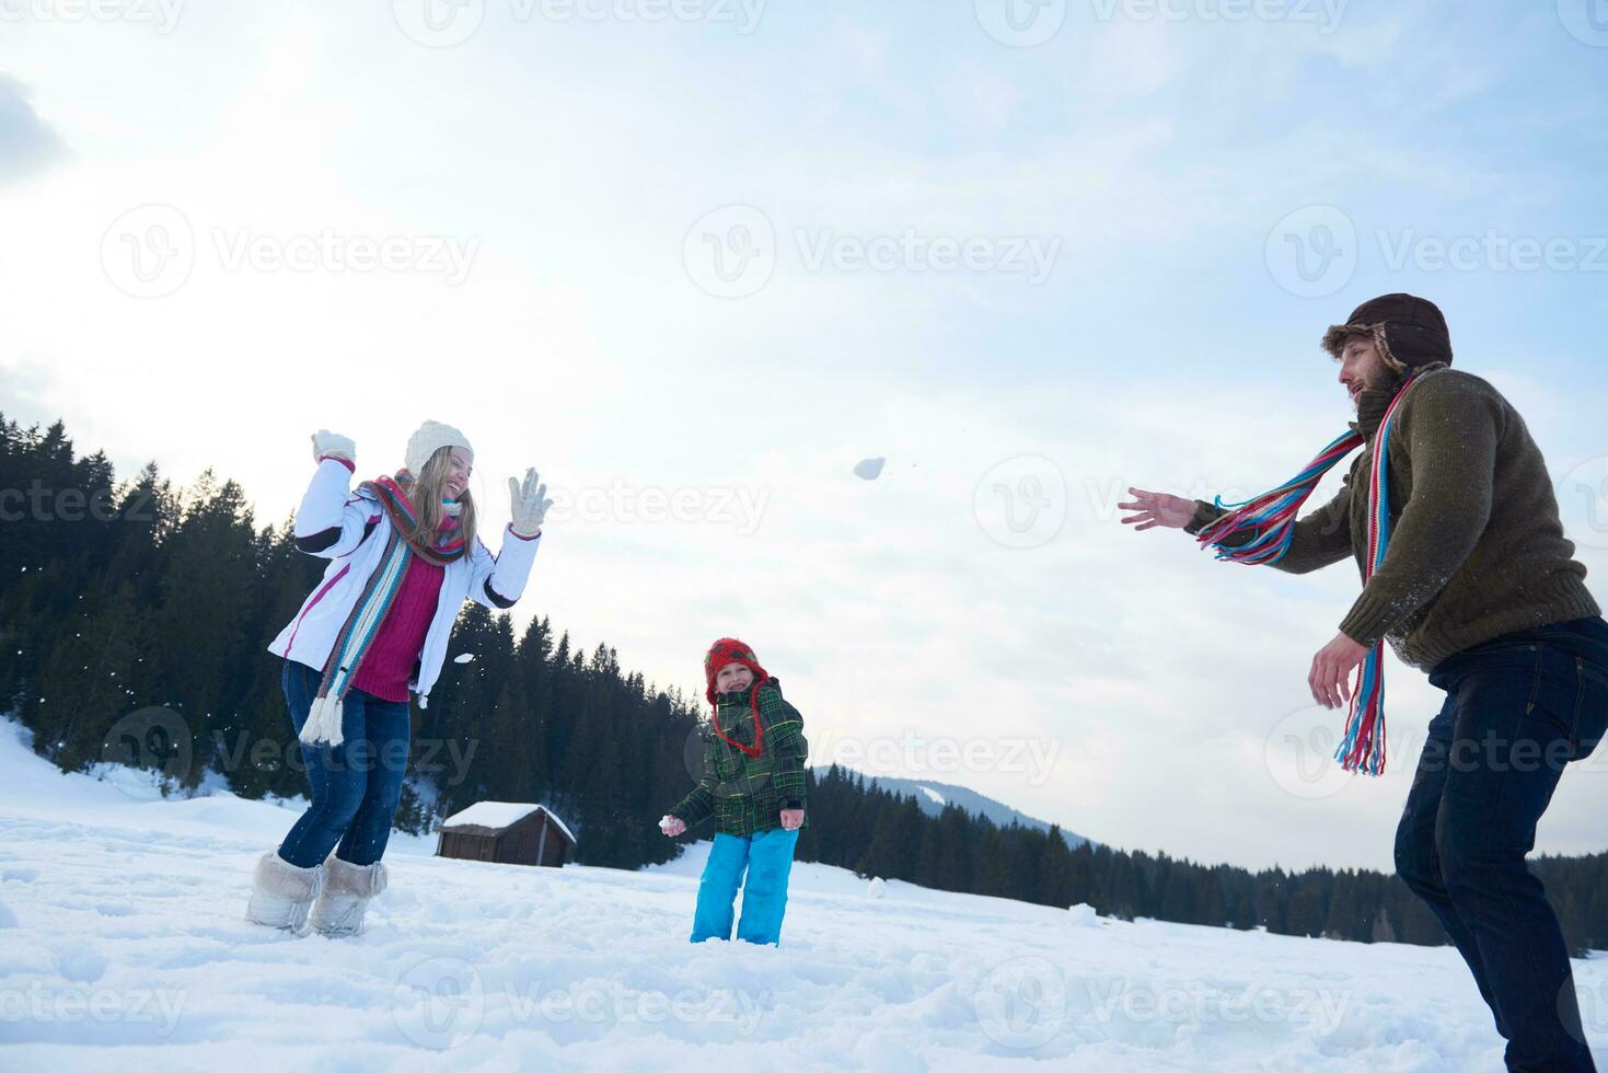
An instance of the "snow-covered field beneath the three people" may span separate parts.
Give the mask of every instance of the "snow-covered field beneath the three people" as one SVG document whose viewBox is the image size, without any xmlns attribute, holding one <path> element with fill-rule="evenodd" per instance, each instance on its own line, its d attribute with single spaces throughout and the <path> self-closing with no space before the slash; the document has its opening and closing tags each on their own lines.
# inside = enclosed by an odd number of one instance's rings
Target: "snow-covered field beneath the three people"
<svg viewBox="0 0 1608 1073">
<path fill-rule="evenodd" d="M 399 837 L 365 935 L 294 938 L 241 915 L 293 819 L 61 775 L 0 722 L 0 1068 L 1502 1065 L 1450 948 L 1090 922 L 822 865 L 794 869 L 780 949 L 695 948 L 704 846 L 627 874 Z M 1576 972 L 1603 1062 L 1608 960 Z"/>
</svg>

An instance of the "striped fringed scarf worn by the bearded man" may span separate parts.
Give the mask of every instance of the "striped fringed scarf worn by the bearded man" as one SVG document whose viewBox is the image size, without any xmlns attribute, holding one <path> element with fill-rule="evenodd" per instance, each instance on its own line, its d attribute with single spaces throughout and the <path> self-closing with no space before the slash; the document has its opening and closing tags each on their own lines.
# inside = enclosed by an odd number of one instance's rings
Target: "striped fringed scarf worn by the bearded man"
<svg viewBox="0 0 1608 1073">
<path fill-rule="evenodd" d="M 1396 391 L 1380 431 L 1373 444 L 1373 463 L 1368 470 L 1368 555 L 1364 561 L 1364 586 L 1373 579 L 1373 573 L 1384 563 L 1384 555 L 1391 545 L 1391 502 L 1389 502 L 1389 438 L 1396 423 L 1396 409 L 1407 397 L 1407 391 L 1418 380 L 1417 373 L 1407 376 Z M 1229 507 L 1230 512 L 1217 518 L 1200 531 L 1196 539 L 1201 547 L 1216 547 L 1219 560 L 1235 563 L 1277 563 L 1290 550 L 1294 539 L 1294 528 L 1301 505 L 1312 495 L 1323 475 L 1364 446 L 1367 438 L 1352 430 L 1338 438 L 1314 458 L 1294 479 L 1280 484 L 1270 492 L 1264 492 L 1243 504 L 1224 504 L 1219 497 L 1217 507 Z M 1229 544 L 1230 539 L 1249 536 L 1248 541 Z M 1360 679 L 1351 693 L 1351 713 L 1346 717 L 1346 734 L 1335 750 L 1335 759 L 1346 771 L 1360 771 L 1367 775 L 1378 775 L 1384 771 L 1384 639 L 1373 642 L 1367 658 L 1362 661 Z"/>
</svg>

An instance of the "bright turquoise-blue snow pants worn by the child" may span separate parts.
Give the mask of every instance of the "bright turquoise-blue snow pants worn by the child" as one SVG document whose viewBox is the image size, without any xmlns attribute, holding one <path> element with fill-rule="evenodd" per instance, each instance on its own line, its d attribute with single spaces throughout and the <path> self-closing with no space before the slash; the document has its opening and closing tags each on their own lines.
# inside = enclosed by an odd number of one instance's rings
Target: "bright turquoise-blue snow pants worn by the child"
<svg viewBox="0 0 1608 1073">
<path fill-rule="evenodd" d="M 732 938 L 732 902 L 743 886 L 743 919 L 736 938 L 745 943 L 781 941 L 781 915 L 788 911 L 788 872 L 793 870 L 796 830 L 767 830 L 740 838 L 716 835 L 698 882 L 693 943 Z M 743 872 L 748 882 L 743 883 Z"/>
</svg>

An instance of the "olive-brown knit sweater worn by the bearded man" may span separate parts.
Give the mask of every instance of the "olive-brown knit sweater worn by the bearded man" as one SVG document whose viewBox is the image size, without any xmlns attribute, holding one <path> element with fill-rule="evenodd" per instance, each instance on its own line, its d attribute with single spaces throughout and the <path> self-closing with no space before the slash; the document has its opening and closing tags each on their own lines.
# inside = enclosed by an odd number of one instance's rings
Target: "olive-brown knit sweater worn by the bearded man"
<svg viewBox="0 0 1608 1073">
<path fill-rule="evenodd" d="M 1296 523 L 1272 566 L 1304 574 L 1352 555 L 1367 576 L 1368 471 L 1399 386 L 1401 378 L 1362 393 L 1352 428 L 1367 446 L 1339 494 Z M 1423 367 L 1396 410 L 1389 497 L 1389 552 L 1339 624 L 1352 640 L 1384 637 L 1404 663 L 1431 669 L 1492 637 L 1602 615 L 1563 536 L 1540 449 L 1479 376 L 1446 362 Z M 1222 513 L 1196 500 L 1187 531 L 1198 534 Z"/>
</svg>

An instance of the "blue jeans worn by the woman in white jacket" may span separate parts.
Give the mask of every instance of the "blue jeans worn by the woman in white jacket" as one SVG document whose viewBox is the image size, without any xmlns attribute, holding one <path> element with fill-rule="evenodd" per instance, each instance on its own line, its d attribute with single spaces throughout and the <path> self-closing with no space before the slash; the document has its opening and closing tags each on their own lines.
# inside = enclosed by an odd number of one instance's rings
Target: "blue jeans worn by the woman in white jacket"
<svg viewBox="0 0 1608 1073">
<path fill-rule="evenodd" d="M 291 724 L 301 734 L 322 674 L 286 660 L 280 680 Z M 333 748 L 328 742 L 301 742 L 312 804 L 285 835 L 280 856 L 302 869 L 323 864 L 336 843 L 339 849 L 334 856 L 349 864 L 378 861 L 386 853 L 391 820 L 402 796 L 408 753 L 407 701 L 379 700 L 349 689 L 341 698 L 341 713 L 344 742 Z"/>
</svg>

